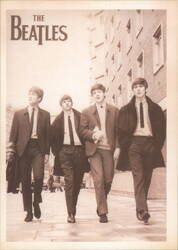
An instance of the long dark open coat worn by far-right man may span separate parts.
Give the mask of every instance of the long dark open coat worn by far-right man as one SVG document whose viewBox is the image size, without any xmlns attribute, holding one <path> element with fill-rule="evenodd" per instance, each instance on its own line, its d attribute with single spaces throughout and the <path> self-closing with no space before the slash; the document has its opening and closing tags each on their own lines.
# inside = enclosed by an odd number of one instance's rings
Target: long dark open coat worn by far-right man
<svg viewBox="0 0 178 250">
<path fill-rule="evenodd" d="M 151 123 L 154 143 L 157 150 L 155 164 L 153 167 L 165 166 L 161 149 L 166 137 L 166 120 L 161 107 L 146 97 L 148 102 L 148 114 Z M 137 113 L 135 107 L 135 97 L 121 108 L 118 117 L 118 134 L 120 143 L 120 155 L 118 159 L 118 170 L 130 170 L 128 161 L 128 148 L 131 144 L 133 133 L 137 126 Z"/>
</svg>

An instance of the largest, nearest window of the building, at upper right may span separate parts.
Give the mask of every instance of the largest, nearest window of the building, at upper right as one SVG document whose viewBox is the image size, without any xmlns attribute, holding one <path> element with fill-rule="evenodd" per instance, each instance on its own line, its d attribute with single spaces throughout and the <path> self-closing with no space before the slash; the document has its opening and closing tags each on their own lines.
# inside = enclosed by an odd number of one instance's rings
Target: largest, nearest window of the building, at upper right
<svg viewBox="0 0 178 250">
<path fill-rule="evenodd" d="M 164 65 L 164 48 L 163 48 L 163 31 L 162 26 L 159 25 L 153 35 L 153 73 L 156 74 L 158 70 Z"/>
</svg>

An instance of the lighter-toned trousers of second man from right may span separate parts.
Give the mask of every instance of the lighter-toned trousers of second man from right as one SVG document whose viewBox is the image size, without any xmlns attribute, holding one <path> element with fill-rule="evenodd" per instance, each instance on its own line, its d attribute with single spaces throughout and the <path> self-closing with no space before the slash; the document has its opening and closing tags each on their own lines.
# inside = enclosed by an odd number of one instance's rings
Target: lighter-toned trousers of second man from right
<svg viewBox="0 0 178 250">
<path fill-rule="evenodd" d="M 98 148 L 90 157 L 90 168 L 95 188 L 97 213 L 98 215 L 107 214 L 107 195 L 114 177 L 112 151 Z"/>
</svg>

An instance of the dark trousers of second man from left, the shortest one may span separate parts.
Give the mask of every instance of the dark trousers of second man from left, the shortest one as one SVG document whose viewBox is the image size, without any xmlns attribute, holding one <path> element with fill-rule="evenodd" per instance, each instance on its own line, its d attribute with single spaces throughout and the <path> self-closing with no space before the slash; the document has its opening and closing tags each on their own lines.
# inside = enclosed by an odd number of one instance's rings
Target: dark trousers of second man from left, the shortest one
<svg viewBox="0 0 178 250">
<path fill-rule="evenodd" d="M 76 214 L 76 206 L 86 164 L 83 146 L 63 145 L 59 152 L 64 173 L 65 197 L 68 214 Z"/>
</svg>

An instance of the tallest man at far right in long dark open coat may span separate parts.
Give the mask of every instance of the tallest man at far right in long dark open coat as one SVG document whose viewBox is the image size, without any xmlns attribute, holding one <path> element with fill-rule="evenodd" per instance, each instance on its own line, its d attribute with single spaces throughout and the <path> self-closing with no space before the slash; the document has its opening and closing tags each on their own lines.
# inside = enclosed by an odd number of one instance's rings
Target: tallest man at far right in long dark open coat
<svg viewBox="0 0 178 250">
<path fill-rule="evenodd" d="M 121 152 L 118 170 L 132 170 L 137 218 L 148 223 L 147 195 L 155 167 L 164 166 L 161 149 L 166 121 L 161 107 L 146 96 L 148 83 L 137 78 L 131 101 L 119 112 L 118 135 Z"/>
</svg>

